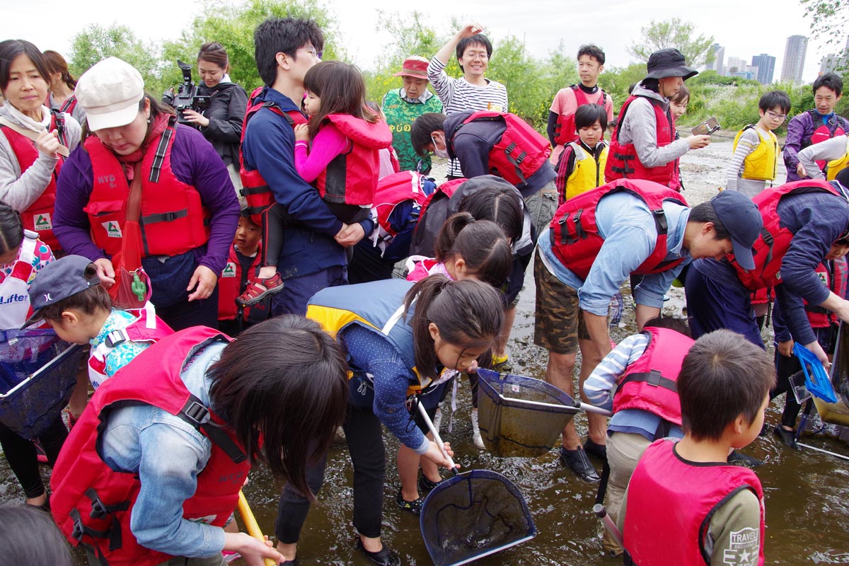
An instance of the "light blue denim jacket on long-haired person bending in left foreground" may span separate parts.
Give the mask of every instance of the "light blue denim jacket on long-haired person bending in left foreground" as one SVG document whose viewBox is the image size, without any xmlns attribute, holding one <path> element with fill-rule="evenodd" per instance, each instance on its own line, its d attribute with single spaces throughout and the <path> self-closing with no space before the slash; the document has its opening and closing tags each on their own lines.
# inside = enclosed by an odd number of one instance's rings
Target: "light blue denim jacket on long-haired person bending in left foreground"
<svg viewBox="0 0 849 566">
<path fill-rule="evenodd" d="M 209 406 L 206 369 L 224 345 L 201 350 L 183 371 L 183 383 Z M 189 558 L 212 557 L 224 548 L 224 530 L 183 519 L 183 502 L 194 495 L 212 444 L 199 430 L 155 406 L 115 409 L 101 436 L 101 454 L 110 468 L 138 474 L 141 490 L 132 507 L 130 528 L 151 550 Z"/>
</svg>

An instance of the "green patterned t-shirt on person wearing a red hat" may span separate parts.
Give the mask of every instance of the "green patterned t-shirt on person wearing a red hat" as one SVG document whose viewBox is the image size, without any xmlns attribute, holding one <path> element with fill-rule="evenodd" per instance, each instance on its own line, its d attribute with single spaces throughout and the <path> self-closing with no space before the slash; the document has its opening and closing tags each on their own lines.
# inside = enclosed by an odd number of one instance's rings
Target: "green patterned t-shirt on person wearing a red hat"
<svg viewBox="0 0 849 566">
<path fill-rule="evenodd" d="M 441 112 L 442 103 L 432 92 L 425 91 L 428 95 L 416 98 L 415 102 L 408 102 L 401 98 L 402 88 L 395 88 L 386 92 L 383 97 L 382 109 L 386 116 L 386 123 L 392 131 L 392 147 L 398 154 L 398 163 L 401 171 L 430 171 L 430 157 L 421 158 L 413 151 L 410 143 L 410 130 L 413 120 L 427 112 Z M 424 95 L 423 95 L 424 96 Z"/>
</svg>

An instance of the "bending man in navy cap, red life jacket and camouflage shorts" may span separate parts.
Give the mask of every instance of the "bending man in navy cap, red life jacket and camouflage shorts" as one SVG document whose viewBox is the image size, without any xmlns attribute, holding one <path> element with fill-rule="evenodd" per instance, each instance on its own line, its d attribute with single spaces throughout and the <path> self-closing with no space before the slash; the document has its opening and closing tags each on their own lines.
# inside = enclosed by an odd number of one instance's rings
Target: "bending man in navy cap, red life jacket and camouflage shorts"
<svg viewBox="0 0 849 566">
<path fill-rule="evenodd" d="M 745 261 L 760 220 L 755 205 L 740 193 L 725 191 L 690 209 L 678 193 L 642 180 L 610 182 L 567 200 L 551 229 L 540 234 L 534 261 L 534 344 L 548 350 L 548 383 L 571 395 L 577 351 L 581 387 L 610 352 L 610 299 L 630 274 L 645 274 L 633 289 L 642 328 L 659 316 L 663 295 L 685 262 L 722 258 L 732 250 Z M 560 460 L 584 481 L 597 482 L 584 449 L 604 459 L 606 421 L 598 414 L 587 417 L 584 445 L 575 424 L 566 425 Z"/>
</svg>

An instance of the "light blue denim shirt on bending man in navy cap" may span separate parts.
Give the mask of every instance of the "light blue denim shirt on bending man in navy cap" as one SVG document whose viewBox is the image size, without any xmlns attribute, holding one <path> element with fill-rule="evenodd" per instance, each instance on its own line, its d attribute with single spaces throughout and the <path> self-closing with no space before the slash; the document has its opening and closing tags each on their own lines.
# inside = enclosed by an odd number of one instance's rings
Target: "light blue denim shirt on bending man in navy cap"
<svg viewBox="0 0 849 566">
<path fill-rule="evenodd" d="M 672 201 L 663 203 L 669 233 L 666 238 L 666 260 L 685 258 L 682 265 L 666 272 L 646 275 L 634 289 L 639 305 L 661 308 L 663 295 L 672 286 L 682 267 L 689 263 L 689 251 L 683 248 L 684 229 L 689 219 L 689 208 Z M 567 269 L 551 249 L 550 231 L 537 240 L 543 262 L 560 281 L 578 290 L 579 305 L 599 317 L 606 317 L 610 299 L 622 283 L 655 250 L 657 228 L 649 207 L 637 196 L 613 193 L 599 200 L 595 210 L 599 235 L 604 238 L 599 255 L 593 261 L 586 281 Z"/>
</svg>

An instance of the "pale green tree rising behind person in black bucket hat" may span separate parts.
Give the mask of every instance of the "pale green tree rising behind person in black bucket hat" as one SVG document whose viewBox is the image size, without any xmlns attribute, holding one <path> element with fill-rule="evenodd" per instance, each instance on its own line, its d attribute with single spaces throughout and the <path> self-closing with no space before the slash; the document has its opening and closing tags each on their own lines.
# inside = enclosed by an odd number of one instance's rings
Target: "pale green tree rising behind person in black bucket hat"
<svg viewBox="0 0 849 566">
<path fill-rule="evenodd" d="M 687 64 L 700 67 L 714 59 L 711 52 L 713 36 L 696 35 L 695 26 L 680 18 L 655 21 L 640 30 L 640 41 L 627 48 L 628 53 L 647 62 L 649 55 L 659 49 L 676 48 L 683 53 Z"/>
</svg>

